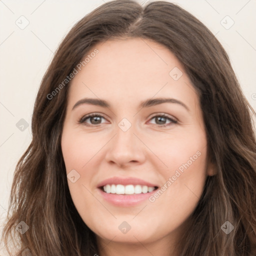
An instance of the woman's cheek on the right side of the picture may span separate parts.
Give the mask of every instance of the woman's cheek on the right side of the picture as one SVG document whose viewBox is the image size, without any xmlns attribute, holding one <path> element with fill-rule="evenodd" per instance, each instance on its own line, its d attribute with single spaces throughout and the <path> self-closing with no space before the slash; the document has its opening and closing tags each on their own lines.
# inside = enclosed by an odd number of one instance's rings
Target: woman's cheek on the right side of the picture
<svg viewBox="0 0 256 256">
<path fill-rule="evenodd" d="M 185 220 L 199 201 L 206 179 L 206 148 L 205 136 L 196 132 L 154 143 L 155 154 L 167 167 L 158 168 L 162 186 L 149 201 L 162 208 L 166 219 L 172 216 L 171 222 Z"/>
</svg>

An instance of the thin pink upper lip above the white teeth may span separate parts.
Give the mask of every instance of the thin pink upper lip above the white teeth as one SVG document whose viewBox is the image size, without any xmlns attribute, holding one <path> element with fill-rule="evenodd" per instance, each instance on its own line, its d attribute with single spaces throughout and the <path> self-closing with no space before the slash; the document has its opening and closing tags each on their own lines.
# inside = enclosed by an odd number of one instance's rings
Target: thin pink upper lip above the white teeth
<svg viewBox="0 0 256 256">
<path fill-rule="evenodd" d="M 122 185 L 146 185 L 146 186 L 157 186 L 156 184 L 147 182 L 143 179 L 136 178 L 136 177 L 110 177 L 107 179 L 102 180 L 98 183 L 97 187 L 104 186 L 106 184 L 122 184 Z"/>
</svg>

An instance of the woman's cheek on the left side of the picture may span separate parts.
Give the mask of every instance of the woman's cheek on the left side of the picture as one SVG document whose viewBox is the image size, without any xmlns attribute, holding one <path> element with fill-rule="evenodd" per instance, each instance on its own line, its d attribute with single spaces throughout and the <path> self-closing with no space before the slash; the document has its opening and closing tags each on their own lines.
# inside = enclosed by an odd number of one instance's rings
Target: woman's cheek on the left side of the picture
<svg viewBox="0 0 256 256">
<path fill-rule="evenodd" d="M 95 138 L 93 139 L 89 134 L 69 130 L 68 127 L 62 132 L 61 150 L 68 188 L 72 201 L 84 222 L 91 216 L 92 210 L 102 206 L 97 205 L 97 200 L 91 194 L 91 183 L 93 183 L 91 181 L 93 178 L 98 180 L 98 176 L 93 170 L 95 170 L 95 159 L 100 155 L 98 151 L 104 143 L 102 140 L 95 141 Z M 95 155 L 96 153 L 97 155 Z M 90 205 L 92 207 L 89 207 Z"/>
</svg>

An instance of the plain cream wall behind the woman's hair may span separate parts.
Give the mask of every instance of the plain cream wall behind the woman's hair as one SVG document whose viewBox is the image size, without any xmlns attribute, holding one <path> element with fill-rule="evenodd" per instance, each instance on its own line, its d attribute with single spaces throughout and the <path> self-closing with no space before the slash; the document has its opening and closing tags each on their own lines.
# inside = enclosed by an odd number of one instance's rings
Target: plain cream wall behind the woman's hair
<svg viewBox="0 0 256 256">
<path fill-rule="evenodd" d="M 70 28 L 104 2 L 107 0 L 0 1 L 0 230 L 15 165 L 31 141 L 32 109 L 42 76 Z M 256 109 L 256 0 L 171 2 L 195 15 L 216 35 L 246 98 Z M 229 29 L 232 20 L 226 15 L 234 21 Z M 25 19 L 29 24 L 20 29 Z M 21 118 L 28 123 L 23 131 L 16 127 Z"/>
</svg>

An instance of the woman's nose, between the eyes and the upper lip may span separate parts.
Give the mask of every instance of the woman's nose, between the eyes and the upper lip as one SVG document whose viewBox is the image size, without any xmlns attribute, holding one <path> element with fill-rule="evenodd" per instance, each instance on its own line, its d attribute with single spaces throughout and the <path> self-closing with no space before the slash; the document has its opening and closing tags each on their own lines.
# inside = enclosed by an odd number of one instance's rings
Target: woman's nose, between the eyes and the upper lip
<svg viewBox="0 0 256 256">
<path fill-rule="evenodd" d="M 126 131 L 119 126 L 116 127 L 116 134 L 108 143 L 105 155 L 107 162 L 125 167 L 134 163 L 141 164 L 145 161 L 145 146 L 138 139 L 137 132 L 134 131 L 133 125 Z"/>
</svg>

